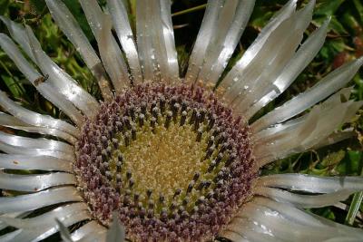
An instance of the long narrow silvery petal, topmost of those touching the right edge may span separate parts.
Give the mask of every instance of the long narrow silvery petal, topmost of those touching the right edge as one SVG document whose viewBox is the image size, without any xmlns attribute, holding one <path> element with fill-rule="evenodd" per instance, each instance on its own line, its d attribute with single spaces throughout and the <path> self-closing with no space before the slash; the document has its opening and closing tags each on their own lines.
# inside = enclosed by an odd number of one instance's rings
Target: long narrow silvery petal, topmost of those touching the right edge
<svg viewBox="0 0 363 242">
<path fill-rule="evenodd" d="M 325 78 L 319 81 L 312 88 L 299 94 L 297 97 L 285 102 L 282 106 L 270 111 L 268 114 L 255 121 L 251 125 L 253 132 L 261 131 L 275 123 L 286 121 L 289 118 L 305 111 L 311 105 L 328 97 L 332 92 L 336 92 L 343 87 L 358 72 L 359 67 L 363 64 L 363 57 L 358 60 L 346 63 Z"/>
</svg>

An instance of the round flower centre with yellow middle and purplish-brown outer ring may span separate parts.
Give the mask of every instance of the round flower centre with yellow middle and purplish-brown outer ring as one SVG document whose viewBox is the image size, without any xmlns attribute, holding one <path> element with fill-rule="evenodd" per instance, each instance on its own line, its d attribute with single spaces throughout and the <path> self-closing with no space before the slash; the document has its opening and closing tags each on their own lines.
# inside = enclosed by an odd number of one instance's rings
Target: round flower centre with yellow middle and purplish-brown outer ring
<svg viewBox="0 0 363 242">
<path fill-rule="evenodd" d="M 201 87 L 142 84 L 83 125 L 74 164 L 93 216 L 136 240 L 215 236 L 250 196 L 248 127 Z"/>
</svg>

